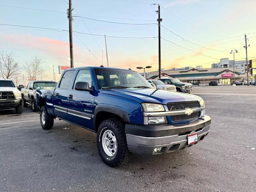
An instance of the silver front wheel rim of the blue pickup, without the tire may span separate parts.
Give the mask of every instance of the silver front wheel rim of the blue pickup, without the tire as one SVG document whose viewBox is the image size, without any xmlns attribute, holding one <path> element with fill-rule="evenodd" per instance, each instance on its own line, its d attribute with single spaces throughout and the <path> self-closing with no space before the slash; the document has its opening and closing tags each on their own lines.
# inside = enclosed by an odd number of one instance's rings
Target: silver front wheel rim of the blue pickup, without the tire
<svg viewBox="0 0 256 192">
<path fill-rule="evenodd" d="M 116 154 L 117 142 L 116 136 L 110 130 L 106 130 L 102 135 L 102 147 L 104 152 L 112 157 Z"/>
</svg>

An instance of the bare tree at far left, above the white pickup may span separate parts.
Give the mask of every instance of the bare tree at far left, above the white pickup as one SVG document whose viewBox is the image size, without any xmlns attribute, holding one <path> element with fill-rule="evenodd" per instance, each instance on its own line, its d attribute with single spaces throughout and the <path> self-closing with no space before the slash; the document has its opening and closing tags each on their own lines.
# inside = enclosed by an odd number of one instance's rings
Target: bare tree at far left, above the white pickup
<svg viewBox="0 0 256 192">
<path fill-rule="evenodd" d="M 0 52 L 0 77 L 4 79 L 14 78 L 19 74 L 18 62 L 14 61 L 13 52 Z"/>
</svg>

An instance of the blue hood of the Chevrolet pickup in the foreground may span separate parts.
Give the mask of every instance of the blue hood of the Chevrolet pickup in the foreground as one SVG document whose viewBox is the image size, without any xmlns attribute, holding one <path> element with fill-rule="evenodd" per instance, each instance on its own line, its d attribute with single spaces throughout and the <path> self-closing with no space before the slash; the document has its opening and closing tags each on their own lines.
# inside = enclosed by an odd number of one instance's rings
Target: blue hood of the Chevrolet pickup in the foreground
<svg viewBox="0 0 256 192">
<path fill-rule="evenodd" d="M 196 95 L 170 92 L 159 89 L 138 89 L 138 88 L 126 88 L 126 89 L 112 89 L 102 90 L 103 94 L 115 95 L 131 100 L 141 102 L 152 102 L 167 104 L 169 102 L 185 102 L 185 101 L 200 101 L 202 98 Z"/>
</svg>

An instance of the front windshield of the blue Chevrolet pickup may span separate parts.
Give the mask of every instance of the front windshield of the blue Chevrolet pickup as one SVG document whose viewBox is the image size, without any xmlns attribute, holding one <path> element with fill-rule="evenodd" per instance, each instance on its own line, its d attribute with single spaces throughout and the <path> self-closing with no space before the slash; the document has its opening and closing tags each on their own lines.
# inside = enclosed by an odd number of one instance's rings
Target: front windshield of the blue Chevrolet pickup
<svg viewBox="0 0 256 192">
<path fill-rule="evenodd" d="M 153 88 L 139 73 L 120 69 L 95 69 L 98 88 Z"/>
</svg>

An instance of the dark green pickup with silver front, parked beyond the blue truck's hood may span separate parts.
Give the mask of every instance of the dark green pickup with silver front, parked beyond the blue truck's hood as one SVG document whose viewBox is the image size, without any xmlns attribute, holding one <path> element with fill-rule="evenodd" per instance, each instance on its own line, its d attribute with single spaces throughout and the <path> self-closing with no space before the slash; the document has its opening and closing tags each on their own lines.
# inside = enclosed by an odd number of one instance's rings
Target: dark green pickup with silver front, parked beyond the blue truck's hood
<svg viewBox="0 0 256 192">
<path fill-rule="evenodd" d="M 191 83 L 181 82 L 180 80 L 178 80 L 176 78 L 161 78 L 159 80 L 164 82 L 164 84 L 175 85 L 176 90 L 178 92 L 191 93 L 193 90 Z"/>
</svg>

